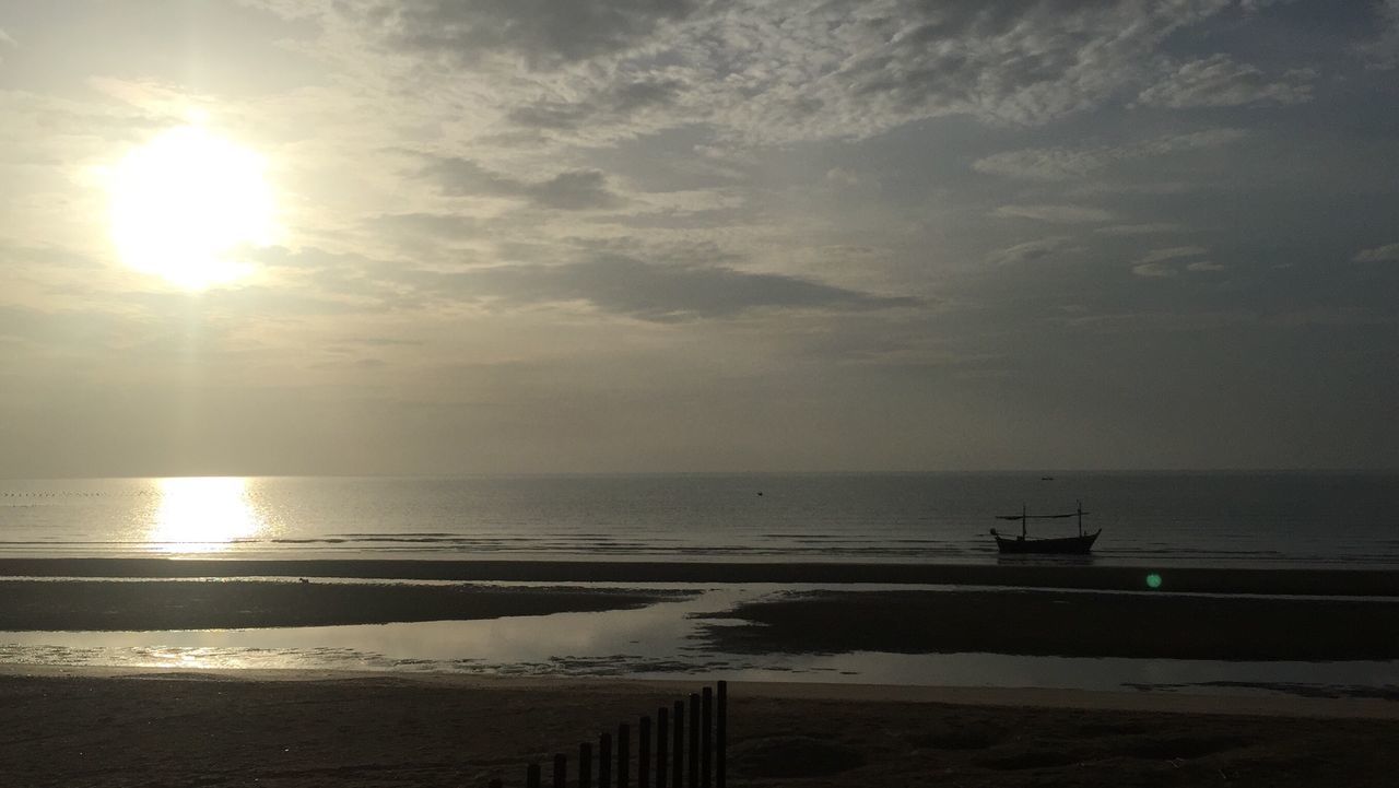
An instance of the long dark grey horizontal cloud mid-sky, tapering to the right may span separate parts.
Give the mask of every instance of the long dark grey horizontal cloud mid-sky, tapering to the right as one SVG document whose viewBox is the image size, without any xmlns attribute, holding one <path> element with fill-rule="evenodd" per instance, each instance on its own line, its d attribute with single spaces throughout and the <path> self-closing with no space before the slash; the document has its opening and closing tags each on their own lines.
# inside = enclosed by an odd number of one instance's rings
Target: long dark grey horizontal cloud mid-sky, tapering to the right
<svg viewBox="0 0 1399 788">
<path fill-rule="evenodd" d="M 621 256 L 553 266 L 492 266 L 428 274 L 424 280 L 508 304 L 582 301 L 652 322 L 727 318 L 754 309 L 865 311 L 922 304 L 918 298 L 873 295 L 792 276 Z"/>
</svg>

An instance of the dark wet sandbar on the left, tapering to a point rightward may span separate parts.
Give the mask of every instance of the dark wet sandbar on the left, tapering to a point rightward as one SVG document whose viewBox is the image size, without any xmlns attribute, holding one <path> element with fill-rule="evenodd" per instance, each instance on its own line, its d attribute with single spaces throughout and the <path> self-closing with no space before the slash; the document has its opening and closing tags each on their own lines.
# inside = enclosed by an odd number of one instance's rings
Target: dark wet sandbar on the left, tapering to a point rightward
<svg viewBox="0 0 1399 788">
<path fill-rule="evenodd" d="M 687 592 L 285 581 L 0 581 L 0 630 L 315 627 L 635 609 Z"/>
</svg>

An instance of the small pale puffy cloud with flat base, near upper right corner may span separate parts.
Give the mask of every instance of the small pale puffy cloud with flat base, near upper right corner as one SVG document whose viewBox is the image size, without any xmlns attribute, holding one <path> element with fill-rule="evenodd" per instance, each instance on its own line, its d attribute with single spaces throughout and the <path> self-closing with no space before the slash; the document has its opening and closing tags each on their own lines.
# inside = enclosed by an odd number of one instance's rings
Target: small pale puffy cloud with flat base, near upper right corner
<svg viewBox="0 0 1399 788">
<path fill-rule="evenodd" d="M 1311 101 L 1314 73 L 1294 70 L 1283 80 L 1269 80 L 1258 67 L 1235 63 L 1228 55 L 1191 60 L 1143 90 L 1143 106 L 1286 106 Z"/>
</svg>

